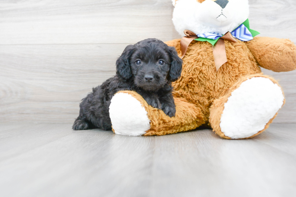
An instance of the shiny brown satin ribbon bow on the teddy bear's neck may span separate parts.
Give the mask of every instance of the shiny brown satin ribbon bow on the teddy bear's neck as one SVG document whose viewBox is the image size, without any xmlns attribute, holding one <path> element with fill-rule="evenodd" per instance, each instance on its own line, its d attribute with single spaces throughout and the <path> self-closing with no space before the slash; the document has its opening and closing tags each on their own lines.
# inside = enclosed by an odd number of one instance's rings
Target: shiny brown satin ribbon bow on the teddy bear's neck
<svg viewBox="0 0 296 197">
<path fill-rule="evenodd" d="M 194 39 L 199 38 L 199 37 L 197 37 L 197 35 L 195 33 L 191 32 L 189 30 L 185 30 L 184 33 L 186 36 L 184 36 L 180 42 L 182 58 L 185 56 L 190 43 Z M 216 66 L 217 71 L 224 63 L 227 62 L 224 40 L 229 40 L 231 42 L 237 42 L 237 40 L 231 35 L 230 32 L 227 32 L 221 38 L 216 42 L 216 44 L 214 46 L 212 46 L 214 60 L 215 60 L 215 66 Z"/>
</svg>

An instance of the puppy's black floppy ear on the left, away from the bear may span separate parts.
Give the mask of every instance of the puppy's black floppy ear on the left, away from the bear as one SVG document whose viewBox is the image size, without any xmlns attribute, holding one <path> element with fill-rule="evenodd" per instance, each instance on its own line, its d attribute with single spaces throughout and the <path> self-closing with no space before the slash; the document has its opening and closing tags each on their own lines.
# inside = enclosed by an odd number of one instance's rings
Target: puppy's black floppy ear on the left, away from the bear
<svg viewBox="0 0 296 197">
<path fill-rule="evenodd" d="M 133 52 L 134 45 L 128 45 L 116 61 L 116 74 L 123 80 L 128 80 L 132 77 L 129 59 Z"/>
</svg>

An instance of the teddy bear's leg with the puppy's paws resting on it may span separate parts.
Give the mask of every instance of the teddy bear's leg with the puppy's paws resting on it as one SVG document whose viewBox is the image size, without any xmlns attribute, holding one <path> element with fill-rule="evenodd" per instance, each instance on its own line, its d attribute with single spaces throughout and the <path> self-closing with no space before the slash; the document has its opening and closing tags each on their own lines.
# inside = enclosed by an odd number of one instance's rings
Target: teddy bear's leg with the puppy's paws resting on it
<svg viewBox="0 0 296 197">
<path fill-rule="evenodd" d="M 114 133 L 120 135 L 165 135 L 189 131 L 205 123 L 204 115 L 195 105 L 181 98 L 174 98 L 175 117 L 153 108 L 134 91 L 115 94 L 109 107 Z"/>
</svg>

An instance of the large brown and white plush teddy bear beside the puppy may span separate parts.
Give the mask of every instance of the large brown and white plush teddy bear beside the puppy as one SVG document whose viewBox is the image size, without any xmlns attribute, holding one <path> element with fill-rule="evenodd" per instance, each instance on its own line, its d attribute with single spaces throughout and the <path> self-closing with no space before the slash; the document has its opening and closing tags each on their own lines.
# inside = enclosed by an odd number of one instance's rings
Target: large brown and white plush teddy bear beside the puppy
<svg viewBox="0 0 296 197">
<path fill-rule="evenodd" d="M 254 137 L 285 103 L 275 72 L 296 69 L 296 46 L 288 39 L 255 37 L 248 0 L 172 0 L 173 23 L 182 39 L 166 42 L 183 59 L 173 82 L 176 115 L 149 106 L 136 92 L 114 95 L 110 118 L 116 134 L 165 135 L 209 125 L 220 137 Z"/>
</svg>

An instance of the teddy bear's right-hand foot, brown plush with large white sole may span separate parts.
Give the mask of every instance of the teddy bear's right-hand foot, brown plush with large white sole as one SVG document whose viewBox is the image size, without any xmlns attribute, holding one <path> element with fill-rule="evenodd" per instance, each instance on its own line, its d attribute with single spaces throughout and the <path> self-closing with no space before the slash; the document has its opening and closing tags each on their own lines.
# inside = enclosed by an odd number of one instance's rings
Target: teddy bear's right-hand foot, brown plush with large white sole
<svg viewBox="0 0 296 197">
<path fill-rule="evenodd" d="M 240 78 L 229 92 L 214 100 L 209 122 L 220 137 L 254 137 L 269 127 L 285 103 L 278 82 L 266 75 Z"/>
</svg>

